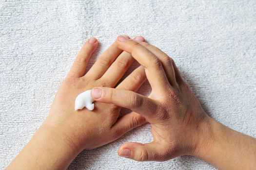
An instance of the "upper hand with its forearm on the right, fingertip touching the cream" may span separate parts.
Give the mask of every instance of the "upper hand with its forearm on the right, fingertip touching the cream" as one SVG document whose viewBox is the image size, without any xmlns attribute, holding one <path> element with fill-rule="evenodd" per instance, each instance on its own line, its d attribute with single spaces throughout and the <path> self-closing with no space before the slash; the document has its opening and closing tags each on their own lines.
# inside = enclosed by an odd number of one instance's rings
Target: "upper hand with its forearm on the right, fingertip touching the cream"
<svg viewBox="0 0 256 170">
<path fill-rule="evenodd" d="M 126 143 L 119 156 L 137 161 L 166 161 L 193 155 L 218 169 L 253 170 L 256 167 L 256 138 L 232 130 L 210 118 L 163 51 L 124 36 L 117 45 L 145 68 L 152 93 L 95 87 L 95 101 L 113 103 L 144 116 L 152 125 L 151 143 Z M 238 161 L 239 160 L 239 161 Z"/>
</svg>

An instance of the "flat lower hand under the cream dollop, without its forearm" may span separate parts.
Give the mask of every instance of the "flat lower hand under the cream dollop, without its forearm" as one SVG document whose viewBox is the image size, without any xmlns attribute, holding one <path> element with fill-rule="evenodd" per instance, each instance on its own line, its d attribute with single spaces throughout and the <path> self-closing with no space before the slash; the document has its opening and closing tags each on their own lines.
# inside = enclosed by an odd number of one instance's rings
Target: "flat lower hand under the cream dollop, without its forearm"
<svg viewBox="0 0 256 170">
<path fill-rule="evenodd" d="M 140 36 L 137 39 L 144 41 Z M 120 108 L 114 104 L 94 102 L 93 111 L 86 108 L 74 111 L 75 99 L 79 93 L 95 86 L 115 87 L 134 60 L 130 53 L 122 52 L 115 42 L 84 75 L 86 64 L 97 46 L 98 41 L 91 38 L 81 48 L 59 88 L 49 117 L 42 125 L 53 133 L 58 133 L 68 145 L 79 150 L 107 144 L 145 123 L 145 119 L 134 112 L 118 118 Z M 145 79 L 144 68 L 140 66 L 117 89 L 136 91 Z"/>
</svg>

